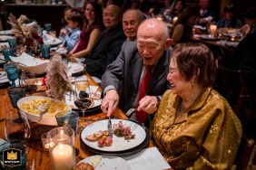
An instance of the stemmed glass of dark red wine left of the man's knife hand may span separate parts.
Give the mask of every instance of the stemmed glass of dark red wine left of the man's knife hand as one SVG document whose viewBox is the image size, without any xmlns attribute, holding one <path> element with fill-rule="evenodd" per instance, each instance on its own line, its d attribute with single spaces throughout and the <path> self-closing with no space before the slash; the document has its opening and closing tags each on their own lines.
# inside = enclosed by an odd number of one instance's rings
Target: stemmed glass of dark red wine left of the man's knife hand
<svg viewBox="0 0 256 170">
<path fill-rule="evenodd" d="M 83 112 L 92 104 L 92 93 L 90 90 L 90 86 L 88 80 L 81 80 L 75 82 L 75 90 L 74 90 L 74 105 L 81 109 Z"/>
</svg>

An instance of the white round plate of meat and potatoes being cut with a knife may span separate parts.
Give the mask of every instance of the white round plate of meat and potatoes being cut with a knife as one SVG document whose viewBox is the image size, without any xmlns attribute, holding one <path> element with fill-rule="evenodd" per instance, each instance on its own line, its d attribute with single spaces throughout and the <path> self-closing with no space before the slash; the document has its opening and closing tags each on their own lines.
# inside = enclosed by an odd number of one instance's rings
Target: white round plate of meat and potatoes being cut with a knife
<svg viewBox="0 0 256 170">
<path fill-rule="evenodd" d="M 112 119 L 113 137 L 109 137 L 108 120 L 96 121 L 81 132 L 86 146 L 104 152 L 118 152 L 132 149 L 143 143 L 146 133 L 139 124 L 124 119 Z"/>
</svg>

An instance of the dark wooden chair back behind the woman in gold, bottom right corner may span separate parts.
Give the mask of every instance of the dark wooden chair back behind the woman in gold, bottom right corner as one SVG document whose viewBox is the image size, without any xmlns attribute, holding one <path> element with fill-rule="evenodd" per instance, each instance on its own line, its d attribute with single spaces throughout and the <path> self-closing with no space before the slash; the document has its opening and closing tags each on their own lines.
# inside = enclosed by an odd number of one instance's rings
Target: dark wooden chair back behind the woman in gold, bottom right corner
<svg viewBox="0 0 256 170">
<path fill-rule="evenodd" d="M 235 170 L 246 170 L 254 145 L 255 141 L 253 139 L 241 137 L 241 144 L 234 161 L 234 165 L 236 165 Z"/>
</svg>

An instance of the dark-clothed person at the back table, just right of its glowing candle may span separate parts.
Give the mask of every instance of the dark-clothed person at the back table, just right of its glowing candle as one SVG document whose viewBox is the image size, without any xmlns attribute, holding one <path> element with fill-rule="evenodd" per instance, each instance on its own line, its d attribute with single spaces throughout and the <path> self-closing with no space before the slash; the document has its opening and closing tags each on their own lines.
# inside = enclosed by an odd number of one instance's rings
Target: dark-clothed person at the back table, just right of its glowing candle
<svg viewBox="0 0 256 170">
<path fill-rule="evenodd" d="M 229 4 L 224 8 L 225 18 L 217 22 L 218 28 L 241 28 L 241 20 L 235 16 L 234 5 Z"/>
</svg>

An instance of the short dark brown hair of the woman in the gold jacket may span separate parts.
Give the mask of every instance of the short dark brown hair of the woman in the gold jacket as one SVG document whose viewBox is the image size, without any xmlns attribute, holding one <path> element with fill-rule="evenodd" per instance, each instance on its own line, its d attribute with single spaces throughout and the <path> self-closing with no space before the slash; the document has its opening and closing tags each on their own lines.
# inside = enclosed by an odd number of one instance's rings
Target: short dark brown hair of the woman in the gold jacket
<svg viewBox="0 0 256 170">
<path fill-rule="evenodd" d="M 195 74 L 198 75 L 198 83 L 202 87 L 212 87 L 216 78 L 217 62 L 206 45 L 177 43 L 172 49 L 171 57 L 176 57 L 178 69 L 186 80 L 191 80 Z"/>
</svg>

